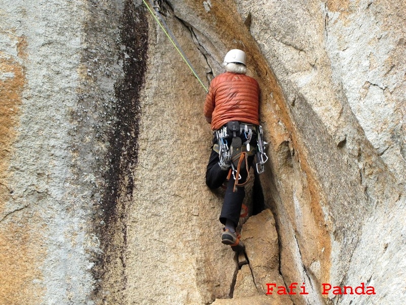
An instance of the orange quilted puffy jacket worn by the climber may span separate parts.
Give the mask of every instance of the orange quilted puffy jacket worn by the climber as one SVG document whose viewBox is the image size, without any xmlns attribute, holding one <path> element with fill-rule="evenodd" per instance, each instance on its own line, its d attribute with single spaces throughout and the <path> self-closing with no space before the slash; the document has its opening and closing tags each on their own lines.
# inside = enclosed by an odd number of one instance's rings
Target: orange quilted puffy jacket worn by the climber
<svg viewBox="0 0 406 305">
<path fill-rule="evenodd" d="M 206 97 L 204 114 L 212 130 L 231 120 L 259 125 L 259 85 L 245 74 L 225 72 L 215 77 Z"/>
</svg>

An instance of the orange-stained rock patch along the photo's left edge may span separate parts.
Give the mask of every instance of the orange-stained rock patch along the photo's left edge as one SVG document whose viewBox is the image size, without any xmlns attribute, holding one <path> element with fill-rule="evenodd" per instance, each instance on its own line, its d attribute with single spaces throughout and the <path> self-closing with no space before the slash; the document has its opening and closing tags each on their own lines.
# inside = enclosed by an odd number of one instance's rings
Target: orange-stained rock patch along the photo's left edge
<svg viewBox="0 0 406 305">
<path fill-rule="evenodd" d="M 22 90 L 25 83 L 24 68 L 19 59 L 26 57 L 26 40 L 17 38 L 17 54 L 0 53 L 0 303 L 8 305 L 40 303 L 39 288 L 43 257 L 41 236 L 35 228 L 35 216 L 26 218 L 8 211 L 6 204 L 13 191 L 8 186 L 9 165 L 13 143 L 17 136 Z M 38 223 L 38 221 L 37 221 Z M 36 282 L 37 281 L 37 282 Z"/>
</svg>

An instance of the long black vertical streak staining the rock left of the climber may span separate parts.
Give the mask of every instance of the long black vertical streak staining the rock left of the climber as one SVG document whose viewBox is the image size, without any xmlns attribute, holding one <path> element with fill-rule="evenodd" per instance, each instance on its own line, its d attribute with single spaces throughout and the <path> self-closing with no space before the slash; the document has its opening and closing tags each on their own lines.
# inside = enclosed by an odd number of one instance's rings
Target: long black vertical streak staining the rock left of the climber
<svg viewBox="0 0 406 305">
<path fill-rule="evenodd" d="M 134 188 L 132 172 L 138 160 L 139 99 L 147 69 L 146 12 L 143 7 L 134 8 L 131 0 L 126 0 L 124 4 L 120 41 L 124 76 L 114 86 L 117 119 L 109 140 L 107 160 L 110 166 L 105 174 L 108 186 L 101 204 L 105 226 L 100 228 L 99 233 L 104 251 L 93 269 L 95 278 L 99 280 L 95 294 L 102 293 L 103 295 L 99 295 L 102 298 L 111 294 L 113 296 L 107 297 L 113 297 L 115 302 L 118 301 L 117 298 L 122 298 L 120 291 L 126 288 L 127 210 Z M 105 284 L 109 286 L 109 291 L 101 292 Z M 114 296 L 117 293 L 119 295 Z"/>
</svg>

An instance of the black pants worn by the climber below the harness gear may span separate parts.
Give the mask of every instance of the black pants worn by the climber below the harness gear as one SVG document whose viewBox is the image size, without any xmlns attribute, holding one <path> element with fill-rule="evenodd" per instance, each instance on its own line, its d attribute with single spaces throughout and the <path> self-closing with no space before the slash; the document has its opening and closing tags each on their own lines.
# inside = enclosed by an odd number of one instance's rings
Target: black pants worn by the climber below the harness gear
<svg viewBox="0 0 406 305">
<path fill-rule="evenodd" d="M 243 143 L 247 140 L 245 138 L 245 135 L 241 135 Z M 256 147 L 256 136 L 252 137 L 253 139 L 251 140 L 251 147 Z M 214 140 L 213 142 L 217 143 L 217 140 Z M 228 140 L 228 143 L 230 146 L 231 144 L 231 139 Z M 248 169 L 251 168 L 252 163 L 254 162 L 255 156 L 249 156 L 248 157 Z M 228 171 L 229 170 L 222 170 L 220 168 L 220 165 L 218 164 L 220 161 L 219 159 L 219 154 L 213 150 L 212 147 L 212 153 L 210 155 L 209 163 L 207 165 L 206 169 L 206 184 L 210 189 L 217 189 L 219 188 L 223 182 L 226 180 Z M 241 170 L 240 172 L 241 179 L 238 181 L 239 184 L 245 182 L 248 178 L 248 173 L 246 169 Z M 240 220 L 240 212 L 241 212 L 241 206 L 243 204 L 243 200 L 245 197 L 245 189 L 243 187 L 237 187 L 237 191 L 233 192 L 234 189 L 234 178 L 231 175 L 230 179 L 227 182 L 227 189 L 225 191 L 224 195 L 224 202 L 223 202 L 223 207 L 221 208 L 221 214 L 220 214 L 220 222 L 225 225 L 225 222 L 227 219 L 231 220 L 234 223 L 234 226 L 236 227 L 238 225 L 238 222 Z"/>
</svg>

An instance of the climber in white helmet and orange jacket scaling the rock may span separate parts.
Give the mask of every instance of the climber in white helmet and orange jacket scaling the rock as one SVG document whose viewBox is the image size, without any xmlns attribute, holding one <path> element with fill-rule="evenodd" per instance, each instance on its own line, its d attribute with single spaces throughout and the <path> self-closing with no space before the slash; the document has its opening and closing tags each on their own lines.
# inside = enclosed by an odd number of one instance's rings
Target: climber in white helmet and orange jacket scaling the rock
<svg viewBox="0 0 406 305">
<path fill-rule="evenodd" d="M 219 218 L 225 226 L 221 242 L 238 252 L 245 249 L 236 227 L 258 144 L 259 85 L 246 75 L 244 51 L 230 50 L 223 66 L 226 72 L 212 80 L 204 106 L 206 120 L 214 131 L 206 184 L 217 189 L 228 179 Z"/>
</svg>

